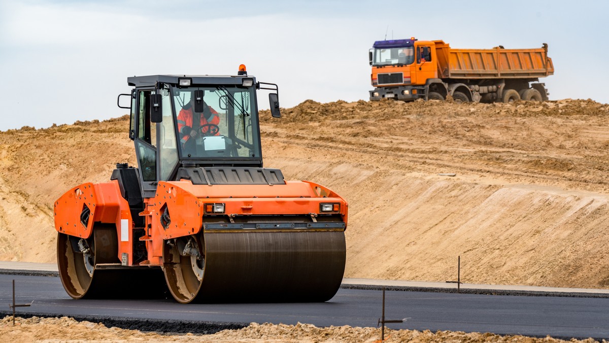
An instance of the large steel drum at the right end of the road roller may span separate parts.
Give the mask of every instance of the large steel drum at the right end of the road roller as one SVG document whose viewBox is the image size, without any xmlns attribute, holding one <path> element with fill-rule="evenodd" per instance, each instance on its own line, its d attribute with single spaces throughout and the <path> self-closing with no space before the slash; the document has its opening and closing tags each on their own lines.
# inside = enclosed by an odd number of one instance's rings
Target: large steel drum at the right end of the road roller
<svg viewBox="0 0 609 343">
<path fill-rule="evenodd" d="M 180 253 L 185 242 L 167 241 L 163 252 L 167 286 L 181 303 L 325 302 L 345 272 L 342 230 L 206 230 L 186 239 L 200 256 Z"/>
</svg>

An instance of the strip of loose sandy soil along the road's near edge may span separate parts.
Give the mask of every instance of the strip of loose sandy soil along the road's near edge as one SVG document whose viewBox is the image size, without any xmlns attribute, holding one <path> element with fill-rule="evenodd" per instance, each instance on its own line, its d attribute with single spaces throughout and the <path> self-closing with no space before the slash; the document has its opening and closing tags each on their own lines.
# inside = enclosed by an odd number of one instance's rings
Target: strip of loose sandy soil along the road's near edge
<svg viewBox="0 0 609 343">
<path fill-rule="evenodd" d="M 0 322 L 0 336 L 5 342 L 378 342 L 380 328 L 329 327 L 318 328 L 309 324 L 271 325 L 255 324 L 241 330 L 224 330 L 216 334 L 167 335 L 144 333 L 138 330 L 107 328 L 103 324 L 77 322 L 74 319 L 37 318 L 16 319 L 4 317 Z M 385 342 L 595 342 L 562 341 L 553 338 L 529 338 L 526 336 L 499 336 L 491 333 L 463 333 L 451 331 L 411 331 L 385 329 Z M 603 341 L 605 342 L 605 341 Z"/>
</svg>

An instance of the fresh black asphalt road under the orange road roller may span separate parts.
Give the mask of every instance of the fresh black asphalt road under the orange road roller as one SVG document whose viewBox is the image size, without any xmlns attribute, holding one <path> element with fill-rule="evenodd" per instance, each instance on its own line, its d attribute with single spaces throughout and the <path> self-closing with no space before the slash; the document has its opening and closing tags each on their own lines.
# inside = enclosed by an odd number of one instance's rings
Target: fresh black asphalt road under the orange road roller
<svg viewBox="0 0 609 343">
<path fill-rule="evenodd" d="M 43 316 L 188 320 L 202 325 L 301 322 L 318 327 L 376 327 L 381 316 L 382 291 L 341 288 L 326 303 L 183 305 L 173 300 L 73 300 L 59 278 L 24 275 L 0 275 L 2 313 L 12 302 L 13 279 L 16 302 L 33 300 L 31 307 L 17 312 Z M 407 318 L 403 324 L 387 324 L 393 329 L 609 338 L 609 299 L 387 291 L 385 302 L 386 319 Z"/>
</svg>

